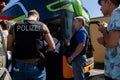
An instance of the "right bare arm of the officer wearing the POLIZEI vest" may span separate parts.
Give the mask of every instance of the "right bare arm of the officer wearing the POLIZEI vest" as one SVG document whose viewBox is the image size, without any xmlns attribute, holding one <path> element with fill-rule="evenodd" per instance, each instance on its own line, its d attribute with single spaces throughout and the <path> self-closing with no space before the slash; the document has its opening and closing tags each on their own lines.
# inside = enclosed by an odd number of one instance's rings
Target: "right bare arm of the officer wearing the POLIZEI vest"
<svg viewBox="0 0 120 80">
<path fill-rule="evenodd" d="M 49 29 L 47 28 L 46 25 L 44 25 L 44 30 L 45 30 L 45 40 L 48 43 L 48 51 L 53 51 L 55 50 L 55 43 L 53 41 L 53 38 L 49 32 Z"/>
</svg>

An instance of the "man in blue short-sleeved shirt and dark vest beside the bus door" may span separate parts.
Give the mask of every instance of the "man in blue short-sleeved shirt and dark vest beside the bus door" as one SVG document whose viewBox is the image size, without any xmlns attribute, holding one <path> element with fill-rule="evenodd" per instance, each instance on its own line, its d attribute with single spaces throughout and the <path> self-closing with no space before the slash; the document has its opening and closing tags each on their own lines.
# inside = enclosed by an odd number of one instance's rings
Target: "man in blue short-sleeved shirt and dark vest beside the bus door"
<svg viewBox="0 0 120 80">
<path fill-rule="evenodd" d="M 68 63 L 72 63 L 74 80 L 85 80 L 84 66 L 86 62 L 85 45 L 88 33 L 85 26 L 85 19 L 81 16 L 74 18 L 75 34 L 70 41 Z"/>
</svg>

